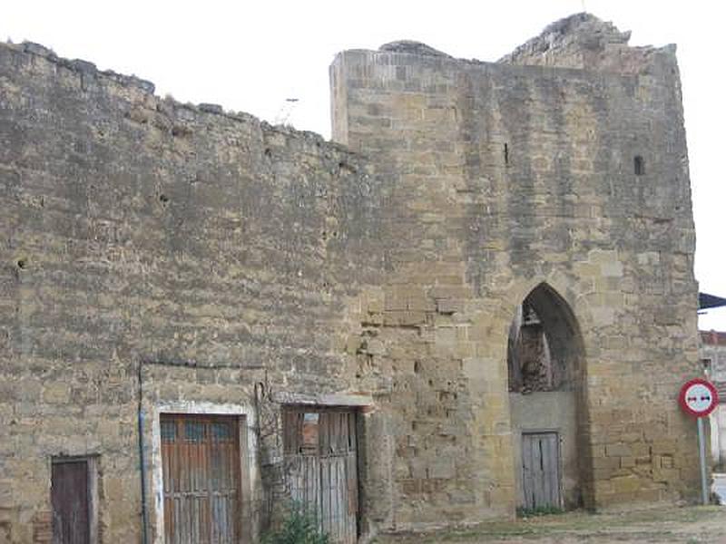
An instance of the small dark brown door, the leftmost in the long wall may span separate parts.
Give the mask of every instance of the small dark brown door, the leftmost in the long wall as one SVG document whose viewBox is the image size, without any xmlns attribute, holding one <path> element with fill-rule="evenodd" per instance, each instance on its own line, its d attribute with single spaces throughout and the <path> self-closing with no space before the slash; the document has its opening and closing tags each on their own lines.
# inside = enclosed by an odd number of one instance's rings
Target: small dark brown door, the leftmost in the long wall
<svg viewBox="0 0 726 544">
<path fill-rule="evenodd" d="M 91 541 L 88 461 L 54 461 L 51 467 L 53 544 Z"/>
</svg>

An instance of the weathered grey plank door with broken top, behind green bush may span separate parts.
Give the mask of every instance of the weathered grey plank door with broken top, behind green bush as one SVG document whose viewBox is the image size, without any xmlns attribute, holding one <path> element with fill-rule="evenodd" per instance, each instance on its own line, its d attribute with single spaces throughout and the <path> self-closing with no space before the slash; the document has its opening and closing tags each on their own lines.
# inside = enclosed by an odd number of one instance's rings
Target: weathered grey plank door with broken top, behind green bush
<svg viewBox="0 0 726 544">
<path fill-rule="evenodd" d="M 288 410 L 286 470 L 292 500 L 319 520 L 331 542 L 358 540 L 356 414 L 347 410 Z"/>
</svg>

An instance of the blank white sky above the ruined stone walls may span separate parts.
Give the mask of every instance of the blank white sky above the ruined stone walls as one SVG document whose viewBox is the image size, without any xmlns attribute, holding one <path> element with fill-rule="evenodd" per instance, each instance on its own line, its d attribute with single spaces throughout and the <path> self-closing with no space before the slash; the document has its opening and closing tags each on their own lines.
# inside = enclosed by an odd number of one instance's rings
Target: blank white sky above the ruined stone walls
<svg viewBox="0 0 726 544">
<path fill-rule="evenodd" d="M 328 66 L 338 51 L 414 39 L 495 61 L 546 24 L 586 11 L 632 30 L 631 44 L 678 44 L 701 290 L 726 296 L 721 180 L 721 3 L 711 0 L 5 0 L 0 39 L 44 44 L 99 68 L 135 73 L 182 102 L 280 119 L 329 138 Z M 700 317 L 726 331 L 726 308 Z"/>
</svg>

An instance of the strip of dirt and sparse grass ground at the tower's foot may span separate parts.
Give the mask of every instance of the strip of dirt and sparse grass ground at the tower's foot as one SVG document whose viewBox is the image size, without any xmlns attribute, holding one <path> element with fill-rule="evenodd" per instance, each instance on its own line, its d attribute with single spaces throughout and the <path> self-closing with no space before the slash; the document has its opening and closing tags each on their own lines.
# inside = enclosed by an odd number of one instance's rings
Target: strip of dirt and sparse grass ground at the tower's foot
<svg viewBox="0 0 726 544">
<path fill-rule="evenodd" d="M 378 544 L 433 544 L 435 542 L 479 542 L 500 544 L 605 544 L 625 542 L 680 542 L 682 544 L 726 544 L 726 507 L 701 506 L 663 508 L 624 513 L 589 514 L 568 512 L 483 523 L 476 527 L 426 534 L 389 535 Z"/>
</svg>

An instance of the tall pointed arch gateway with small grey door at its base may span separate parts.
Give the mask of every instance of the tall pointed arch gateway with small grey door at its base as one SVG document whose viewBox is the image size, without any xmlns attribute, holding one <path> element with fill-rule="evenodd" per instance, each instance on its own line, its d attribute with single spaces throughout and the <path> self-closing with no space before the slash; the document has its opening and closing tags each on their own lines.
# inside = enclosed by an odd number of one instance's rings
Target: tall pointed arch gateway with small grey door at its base
<svg viewBox="0 0 726 544">
<path fill-rule="evenodd" d="M 553 287 L 539 284 L 517 307 L 506 359 L 517 505 L 589 506 L 584 344 Z"/>
</svg>

